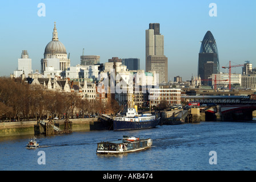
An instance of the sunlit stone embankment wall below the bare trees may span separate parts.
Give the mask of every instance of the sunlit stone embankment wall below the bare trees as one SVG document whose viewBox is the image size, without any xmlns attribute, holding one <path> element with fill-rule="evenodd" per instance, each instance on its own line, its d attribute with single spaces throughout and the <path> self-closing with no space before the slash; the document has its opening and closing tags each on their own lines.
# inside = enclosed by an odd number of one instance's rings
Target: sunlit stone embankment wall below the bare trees
<svg viewBox="0 0 256 182">
<path fill-rule="evenodd" d="M 98 121 L 98 118 L 84 118 L 84 119 L 69 119 L 72 121 L 72 130 L 90 130 L 90 122 Z M 65 120 L 57 120 L 59 127 L 63 130 Z M 23 122 L 2 122 L 0 123 L 0 137 L 8 137 L 14 135 L 30 135 L 34 134 L 34 125 L 37 121 L 23 121 Z"/>
</svg>

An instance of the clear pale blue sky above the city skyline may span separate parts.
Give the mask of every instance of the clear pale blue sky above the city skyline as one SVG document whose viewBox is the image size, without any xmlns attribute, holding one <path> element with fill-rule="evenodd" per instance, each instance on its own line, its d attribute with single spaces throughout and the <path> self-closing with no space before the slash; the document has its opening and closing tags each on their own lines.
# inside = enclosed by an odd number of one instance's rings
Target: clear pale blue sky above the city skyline
<svg viewBox="0 0 256 182">
<path fill-rule="evenodd" d="M 39 3 L 45 5 L 45 16 L 38 16 Z M 217 6 L 217 16 L 209 15 L 211 3 Z M 256 67 L 255 8 L 255 0 L 4 1 L 0 76 L 8 77 L 18 68 L 22 50 L 29 53 L 32 69 L 40 71 L 54 22 L 59 41 L 70 53 L 71 66 L 80 64 L 85 48 L 85 55 L 99 55 L 101 63 L 111 57 L 139 58 L 145 69 L 145 30 L 149 23 L 160 23 L 171 81 L 174 76 L 184 81 L 197 75 L 200 41 L 208 30 L 217 43 L 220 67 L 229 61 L 231 65 L 250 61 Z M 232 72 L 242 73 L 242 68 L 232 68 Z"/>
</svg>

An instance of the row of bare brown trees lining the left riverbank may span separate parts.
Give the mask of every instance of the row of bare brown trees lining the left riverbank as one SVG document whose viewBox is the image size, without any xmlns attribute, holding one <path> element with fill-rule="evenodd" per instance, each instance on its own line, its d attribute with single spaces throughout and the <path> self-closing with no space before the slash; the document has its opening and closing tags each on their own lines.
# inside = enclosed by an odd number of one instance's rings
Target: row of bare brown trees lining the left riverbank
<svg viewBox="0 0 256 182">
<path fill-rule="evenodd" d="M 95 113 L 114 113 L 119 110 L 116 101 L 102 102 L 81 99 L 77 93 L 45 90 L 31 86 L 19 78 L 0 77 L 0 120 L 72 117 Z"/>
</svg>

